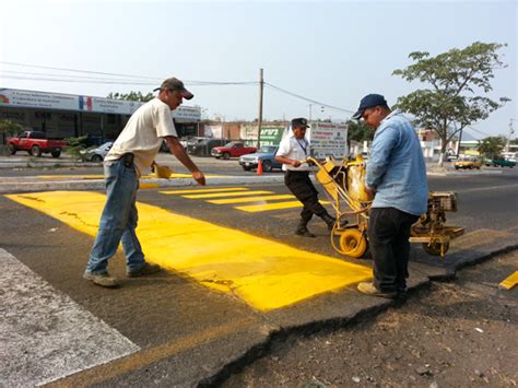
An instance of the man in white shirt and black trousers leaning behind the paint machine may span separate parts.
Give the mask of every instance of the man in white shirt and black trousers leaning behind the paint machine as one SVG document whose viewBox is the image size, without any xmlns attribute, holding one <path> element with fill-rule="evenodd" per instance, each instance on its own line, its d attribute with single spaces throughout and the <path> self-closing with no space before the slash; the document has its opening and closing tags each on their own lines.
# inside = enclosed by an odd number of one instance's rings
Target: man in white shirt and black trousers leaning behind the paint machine
<svg viewBox="0 0 518 388">
<path fill-rule="evenodd" d="M 279 144 L 275 160 L 282 163 L 284 184 L 290 191 L 304 204 L 301 221 L 295 234 L 304 237 L 315 237 L 307 228 L 313 214 L 321 217 L 331 231 L 335 219 L 329 215 L 326 208 L 318 201 L 318 191 L 309 179 L 309 166 L 301 161 L 310 156 L 309 141 L 306 139 L 306 129 L 309 126 L 305 118 L 292 120 L 292 131 Z"/>
</svg>

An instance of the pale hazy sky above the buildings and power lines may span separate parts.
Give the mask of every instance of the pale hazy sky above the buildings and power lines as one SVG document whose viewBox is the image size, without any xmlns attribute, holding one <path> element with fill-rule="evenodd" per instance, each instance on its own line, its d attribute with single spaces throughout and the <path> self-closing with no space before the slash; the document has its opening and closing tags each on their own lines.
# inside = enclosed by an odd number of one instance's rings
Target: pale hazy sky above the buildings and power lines
<svg viewBox="0 0 518 388">
<path fill-rule="evenodd" d="M 204 117 L 251 120 L 262 68 L 264 120 L 338 121 L 368 93 L 385 95 L 390 105 L 428 87 L 392 75 L 413 63 L 412 51 L 436 56 L 474 42 L 499 43 L 507 44 L 498 51 L 507 67 L 495 70 L 487 96 L 511 102 L 467 132 L 507 136 L 514 119 L 516 137 L 517 19 L 516 0 L 17 0 L 2 3 L 0 13 L 0 87 L 145 94 L 175 75 L 195 93 L 185 104 L 199 105 Z"/>
</svg>

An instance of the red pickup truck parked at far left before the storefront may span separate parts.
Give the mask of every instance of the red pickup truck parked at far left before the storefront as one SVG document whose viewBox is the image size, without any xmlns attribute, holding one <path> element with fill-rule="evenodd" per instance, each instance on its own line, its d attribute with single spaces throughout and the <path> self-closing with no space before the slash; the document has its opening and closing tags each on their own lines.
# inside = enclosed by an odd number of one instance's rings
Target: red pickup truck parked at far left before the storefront
<svg viewBox="0 0 518 388">
<path fill-rule="evenodd" d="M 61 150 L 67 145 L 62 140 L 47 139 L 44 132 L 24 131 L 15 138 L 7 139 L 8 149 L 11 155 L 16 151 L 27 151 L 30 155 L 39 157 L 43 153 L 50 153 L 52 157 L 59 157 Z"/>
</svg>

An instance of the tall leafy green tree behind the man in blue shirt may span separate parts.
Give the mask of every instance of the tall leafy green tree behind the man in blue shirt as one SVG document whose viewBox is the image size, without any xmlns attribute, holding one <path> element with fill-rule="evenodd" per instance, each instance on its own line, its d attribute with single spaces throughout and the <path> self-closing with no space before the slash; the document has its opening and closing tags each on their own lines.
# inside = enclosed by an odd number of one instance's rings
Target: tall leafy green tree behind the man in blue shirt
<svg viewBox="0 0 518 388">
<path fill-rule="evenodd" d="M 397 107 L 415 116 L 415 125 L 434 129 L 442 140 L 439 165 L 451 139 L 467 126 L 484 120 L 509 98 L 499 103 L 484 94 L 493 89 L 493 71 L 506 67 L 498 49 L 507 45 L 475 42 L 463 49 L 454 48 L 436 57 L 415 51 L 409 58 L 415 61 L 393 75 L 404 80 L 427 83 L 431 89 L 416 90 L 399 97 Z"/>
</svg>

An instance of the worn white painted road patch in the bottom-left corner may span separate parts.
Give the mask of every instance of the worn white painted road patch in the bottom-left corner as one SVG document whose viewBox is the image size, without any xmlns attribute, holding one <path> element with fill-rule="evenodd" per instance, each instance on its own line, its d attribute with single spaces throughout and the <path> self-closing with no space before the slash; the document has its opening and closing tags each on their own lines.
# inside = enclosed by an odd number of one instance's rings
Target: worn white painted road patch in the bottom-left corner
<svg viewBox="0 0 518 388">
<path fill-rule="evenodd" d="M 34 387 L 140 348 L 0 248 L 0 387 Z"/>
</svg>

